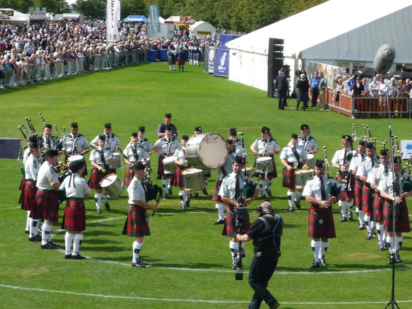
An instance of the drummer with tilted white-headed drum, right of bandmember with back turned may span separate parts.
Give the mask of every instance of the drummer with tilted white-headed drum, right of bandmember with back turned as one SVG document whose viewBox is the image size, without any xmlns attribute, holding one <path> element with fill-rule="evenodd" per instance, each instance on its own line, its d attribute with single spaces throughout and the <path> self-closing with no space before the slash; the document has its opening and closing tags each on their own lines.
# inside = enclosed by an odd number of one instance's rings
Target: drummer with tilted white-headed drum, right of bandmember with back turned
<svg viewBox="0 0 412 309">
<path fill-rule="evenodd" d="M 100 186 L 100 181 L 104 179 L 110 173 L 110 169 L 108 167 L 108 162 L 111 161 L 115 163 L 115 159 L 113 159 L 113 152 L 105 148 L 106 144 L 106 135 L 101 134 L 98 136 L 98 148 L 93 150 L 90 154 L 90 162 L 93 166 L 93 170 L 91 171 L 90 179 L 89 179 L 89 187 L 90 189 L 96 190 L 95 193 L 95 203 L 96 203 L 96 212 L 101 214 L 102 211 L 100 210 L 100 205 L 102 204 L 102 198 L 104 206 L 106 207 L 107 211 L 110 211 L 110 205 L 108 205 L 108 198 L 106 192 L 103 191 L 103 188 Z M 102 194 L 103 192 L 103 194 Z"/>
</svg>

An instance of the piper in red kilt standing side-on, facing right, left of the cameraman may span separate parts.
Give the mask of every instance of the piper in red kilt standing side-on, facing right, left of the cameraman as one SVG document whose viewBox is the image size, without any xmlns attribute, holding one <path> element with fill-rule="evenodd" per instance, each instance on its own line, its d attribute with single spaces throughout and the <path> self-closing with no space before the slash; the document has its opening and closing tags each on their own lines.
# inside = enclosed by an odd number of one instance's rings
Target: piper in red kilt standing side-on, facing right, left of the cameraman
<svg viewBox="0 0 412 309">
<path fill-rule="evenodd" d="M 160 203 L 160 198 L 157 198 L 156 204 L 148 204 L 148 187 L 142 182 L 144 169 L 145 166 L 141 163 L 137 163 L 132 167 L 134 177 L 127 189 L 130 206 L 122 232 L 123 235 L 136 238 L 133 242 L 132 267 L 138 268 L 145 268 L 147 265 L 140 257 L 144 236 L 150 236 L 149 216 L 146 209 L 158 210 L 158 204 Z"/>
</svg>

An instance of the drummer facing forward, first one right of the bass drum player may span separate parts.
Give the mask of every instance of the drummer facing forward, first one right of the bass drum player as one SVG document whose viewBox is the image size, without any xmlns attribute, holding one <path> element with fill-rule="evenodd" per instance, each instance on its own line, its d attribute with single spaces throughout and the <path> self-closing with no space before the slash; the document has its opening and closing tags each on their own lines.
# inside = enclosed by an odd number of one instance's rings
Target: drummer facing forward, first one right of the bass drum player
<svg viewBox="0 0 412 309">
<path fill-rule="evenodd" d="M 272 196 L 271 192 L 271 184 L 273 182 L 273 179 L 277 177 L 277 171 L 276 171 L 276 164 L 275 160 L 273 159 L 274 154 L 278 154 L 280 152 L 280 147 L 279 144 L 277 144 L 276 139 L 274 139 L 271 135 L 271 130 L 264 126 L 262 128 L 262 137 L 259 139 L 256 139 L 252 146 L 251 150 L 253 152 L 253 155 L 255 155 L 256 158 L 258 157 L 271 157 L 272 158 L 272 163 L 273 163 L 273 171 L 271 173 L 268 173 L 267 179 L 265 178 L 264 175 L 259 175 L 260 176 L 260 189 L 262 190 L 262 194 L 260 195 L 260 198 L 266 198 L 266 193 L 268 196 Z M 266 193 L 265 193 L 266 192 Z"/>
</svg>

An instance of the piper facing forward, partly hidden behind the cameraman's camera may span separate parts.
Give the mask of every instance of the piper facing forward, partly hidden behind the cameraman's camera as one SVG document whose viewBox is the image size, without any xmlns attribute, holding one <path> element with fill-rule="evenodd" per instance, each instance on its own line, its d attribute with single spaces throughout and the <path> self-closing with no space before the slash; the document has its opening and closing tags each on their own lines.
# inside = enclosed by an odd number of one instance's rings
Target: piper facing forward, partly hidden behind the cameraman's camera
<svg viewBox="0 0 412 309">
<path fill-rule="evenodd" d="M 244 183 L 246 182 L 244 174 L 242 174 L 242 169 L 244 168 L 244 158 L 234 157 L 232 163 L 232 170 L 229 175 L 227 175 L 220 185 L 219 196 L 222 198 L 222 202 L 227 205 L 225 227 L 223 227 L 222 235 L 229 236 L 231 241 L 229 242 L 229 248 L 232 256 L 232 269 L 236 270 L 237 258 L 235 251 L 242 250 L 239 248 L 238 240 L 236 239 L 236 234 L 242 232 L 247 232 L 250 227 L 249 223 L 249 213 L 244 211 L 244 218 L 242 218 L 242 227 L 236 225 L 236 218 L 233 214 L 234 207 L 247 206 L 258 196 L 260 190 L 259 188 L 255 190 L 251 198 L 244 200 Z M 253 182 L 254 183 L 254 182 Z M 244 201 L 244 205 L 240 205 L 240 200 Z M 247 208 L 244 208 L 247 209 Z"/>
</svg>

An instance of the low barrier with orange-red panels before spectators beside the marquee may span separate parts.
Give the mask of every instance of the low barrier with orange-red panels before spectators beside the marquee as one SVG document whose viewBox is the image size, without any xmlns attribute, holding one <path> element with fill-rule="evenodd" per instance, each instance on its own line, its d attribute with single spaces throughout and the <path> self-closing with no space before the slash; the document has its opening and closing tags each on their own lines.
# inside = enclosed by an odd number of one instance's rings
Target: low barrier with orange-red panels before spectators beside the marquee
<svg viewBox="0 0 412 309">
<path fill-rule="evenodd" d="M 351 97 L 349 95 L 336 95 L 328 90 L 325 93 L 330 111 L 354 118 L 387 118 L 388 106 L 391 117 L 411 118 L 411 98 L 390 97 Z"/>
</svg>

